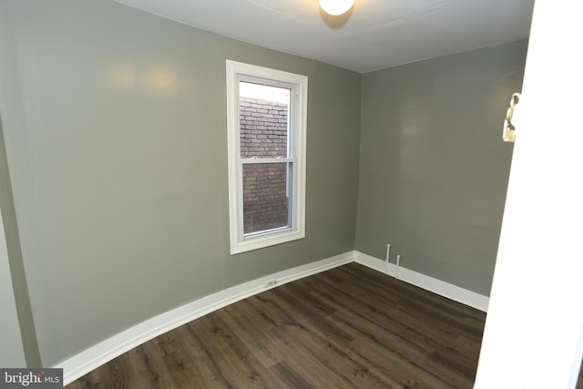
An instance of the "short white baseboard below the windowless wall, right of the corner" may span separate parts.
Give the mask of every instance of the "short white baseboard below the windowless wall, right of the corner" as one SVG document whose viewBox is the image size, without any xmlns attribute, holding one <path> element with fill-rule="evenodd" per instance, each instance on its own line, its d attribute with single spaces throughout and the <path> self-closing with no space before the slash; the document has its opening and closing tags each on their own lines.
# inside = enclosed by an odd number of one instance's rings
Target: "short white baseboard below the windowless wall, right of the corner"
<svg viewBox="0 0 583 389">
<path fill-rule="evenodd" d="M 461 302 L 482 312 L 487 312 L 489 298 L 483 294 L 468 291 L 448 282 L 437 280 L 417 271 L 412 271 L 400 266 L 397 274 L 397 266 L 394 263 L 387 263 L 378 258 L 371 257 L 360 251 L 354 252 L 354 261 L 369 267 L 375 271 L 381 271 L 391 275 L 401 281 L 411 283 L 423 288 L 426 291 L 434 292 L 440 296 L 447 297 L 455 302 Z"/>
</svg>

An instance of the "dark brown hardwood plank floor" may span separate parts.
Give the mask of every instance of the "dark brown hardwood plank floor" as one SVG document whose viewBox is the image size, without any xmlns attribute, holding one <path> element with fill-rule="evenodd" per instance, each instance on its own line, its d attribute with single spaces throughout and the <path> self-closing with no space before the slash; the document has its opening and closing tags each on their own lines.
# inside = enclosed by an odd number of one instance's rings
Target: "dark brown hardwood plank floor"
<svg viewBox="0 0 583 389">
<path fill-rule="evenodd" d="M 66 387 L 471 388 L 485 316 L 351 263 L 189 322 Z"/>
</svg>

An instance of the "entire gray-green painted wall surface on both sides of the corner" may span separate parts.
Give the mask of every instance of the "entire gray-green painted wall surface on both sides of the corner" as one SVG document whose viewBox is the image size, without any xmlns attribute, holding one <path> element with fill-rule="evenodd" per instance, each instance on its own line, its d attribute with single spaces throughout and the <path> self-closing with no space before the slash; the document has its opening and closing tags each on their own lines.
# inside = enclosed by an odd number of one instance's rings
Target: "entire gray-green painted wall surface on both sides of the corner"
<svg viewBox="0 0 583 389">
<path fill-rule="evenodd" d="M 276 271 L 382 259 L 389 242 L 392 261 L 488 294 L 525 53 L 359 75 L 112 1 L 0 2 L 0 200 L 27 363 Z M 227 58 L 310 83 L 306 238 L 236 256 Z"/>
</svg>

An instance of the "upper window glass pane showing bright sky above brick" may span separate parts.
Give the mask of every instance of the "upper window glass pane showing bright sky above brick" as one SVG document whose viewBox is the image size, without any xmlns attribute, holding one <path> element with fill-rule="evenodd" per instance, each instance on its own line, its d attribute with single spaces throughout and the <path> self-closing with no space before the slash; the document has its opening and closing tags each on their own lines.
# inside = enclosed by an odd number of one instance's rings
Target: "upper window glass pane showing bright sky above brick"
<svg viewBox="0 0 583 389">
<path fill-rule="evenodd" d="M 240 158 L 287 158 L 290 89 L 239 82 Z"/>
</svg>

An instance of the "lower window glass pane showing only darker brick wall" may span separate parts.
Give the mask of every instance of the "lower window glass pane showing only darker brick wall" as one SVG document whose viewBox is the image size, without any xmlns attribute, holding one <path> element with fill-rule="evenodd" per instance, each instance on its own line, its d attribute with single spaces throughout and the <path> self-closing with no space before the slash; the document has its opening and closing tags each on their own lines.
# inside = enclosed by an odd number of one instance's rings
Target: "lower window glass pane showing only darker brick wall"
<svg viewBox="0 0 583 389">
<path fill-rule="evenodd" d="M 243 233 L 290 227 L 292 163 L 243 165 Z"/>
</svg>

